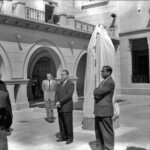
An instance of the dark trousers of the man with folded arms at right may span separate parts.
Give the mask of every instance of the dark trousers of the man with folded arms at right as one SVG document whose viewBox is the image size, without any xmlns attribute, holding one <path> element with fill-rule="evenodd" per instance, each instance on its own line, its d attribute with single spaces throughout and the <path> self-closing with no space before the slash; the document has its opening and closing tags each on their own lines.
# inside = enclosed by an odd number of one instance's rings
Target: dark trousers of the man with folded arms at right
<svg viewBox="0 0 150 150">
<path fill-rule="evenodd" d="M 112 117 L 95 117 L 95 135 L 99 150 L 114 150 Z"/>
</svg>

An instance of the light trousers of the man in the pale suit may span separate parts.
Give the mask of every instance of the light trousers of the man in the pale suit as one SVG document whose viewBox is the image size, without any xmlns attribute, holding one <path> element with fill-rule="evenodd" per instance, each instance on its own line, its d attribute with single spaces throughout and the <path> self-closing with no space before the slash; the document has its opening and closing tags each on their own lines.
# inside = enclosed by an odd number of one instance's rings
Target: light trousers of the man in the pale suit
<svg viewBox="0 0 150 150">
<path fill-rule="evenodd" d="M 47 120 L 52 121 L 54 119 L 54 101 L 45 101 L 45 108 L 47 113 Z"/>
</svg>

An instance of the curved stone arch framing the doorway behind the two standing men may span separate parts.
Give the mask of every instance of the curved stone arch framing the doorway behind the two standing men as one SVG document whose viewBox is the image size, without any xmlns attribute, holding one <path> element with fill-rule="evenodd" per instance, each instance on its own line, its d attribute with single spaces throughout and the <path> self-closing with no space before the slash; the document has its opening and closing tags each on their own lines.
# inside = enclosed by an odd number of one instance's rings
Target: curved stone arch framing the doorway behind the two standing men
<svg viewBox="0 0 150 150">
<path fill-rule="evenodd" d="M 44 39 L 36 41 L 29 49 L 25 57 L 24 65 L 23 65 L 24 78 L 27 78 L 28 64 L 31 59 L 31 56 L 37 55 L 38 53 L 41 53 L 41 52 L 48 52 L 54 58 L 54 62 L 57 68 L 57 78 L 59 78 L 61 70 L 66 69 L 64 56 L 62 52 L 60 51 L 60 49 L 53 42 L 49 40 L 44 40 Z"/>
</svg>

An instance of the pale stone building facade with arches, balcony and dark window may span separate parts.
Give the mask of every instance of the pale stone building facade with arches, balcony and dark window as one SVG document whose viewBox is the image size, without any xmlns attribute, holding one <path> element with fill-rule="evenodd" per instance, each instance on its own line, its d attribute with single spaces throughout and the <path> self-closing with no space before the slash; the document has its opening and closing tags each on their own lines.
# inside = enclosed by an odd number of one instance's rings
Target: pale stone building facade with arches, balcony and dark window
<svg viewBox="0 0 150 150">
<path fill-rule="evenodd" d="M 46 73 L 59 81 L 62 69 L 76 85 L 74 100 L 84 96 L 87 46 L 97 24 L 106 27 L 116 48 L 117 94 L 149 95 L 149 6 L 148 1 L 1 1 L 0 68 L 13 108 L 28 108 L 34 96 L 42 96 Z"/>
</svg>

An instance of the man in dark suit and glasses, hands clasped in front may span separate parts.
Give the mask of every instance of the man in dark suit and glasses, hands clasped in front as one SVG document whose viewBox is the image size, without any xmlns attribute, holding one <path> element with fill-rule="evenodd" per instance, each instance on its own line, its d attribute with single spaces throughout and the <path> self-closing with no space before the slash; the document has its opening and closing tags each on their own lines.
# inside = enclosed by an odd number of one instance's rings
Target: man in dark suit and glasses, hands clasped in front
<svg viewBox="0 0 150 150">
<path fill-rule="evenodd" d="M 68 70 L 61 72 L 62 82 L 56 90 L 56 106 L 58 109 L 58 121 L 61 138 L 57 142 L 66 141 L 66 144 L 73 142 L 73 99 L 74 83 L 70 81 Z"/>
</svg>

